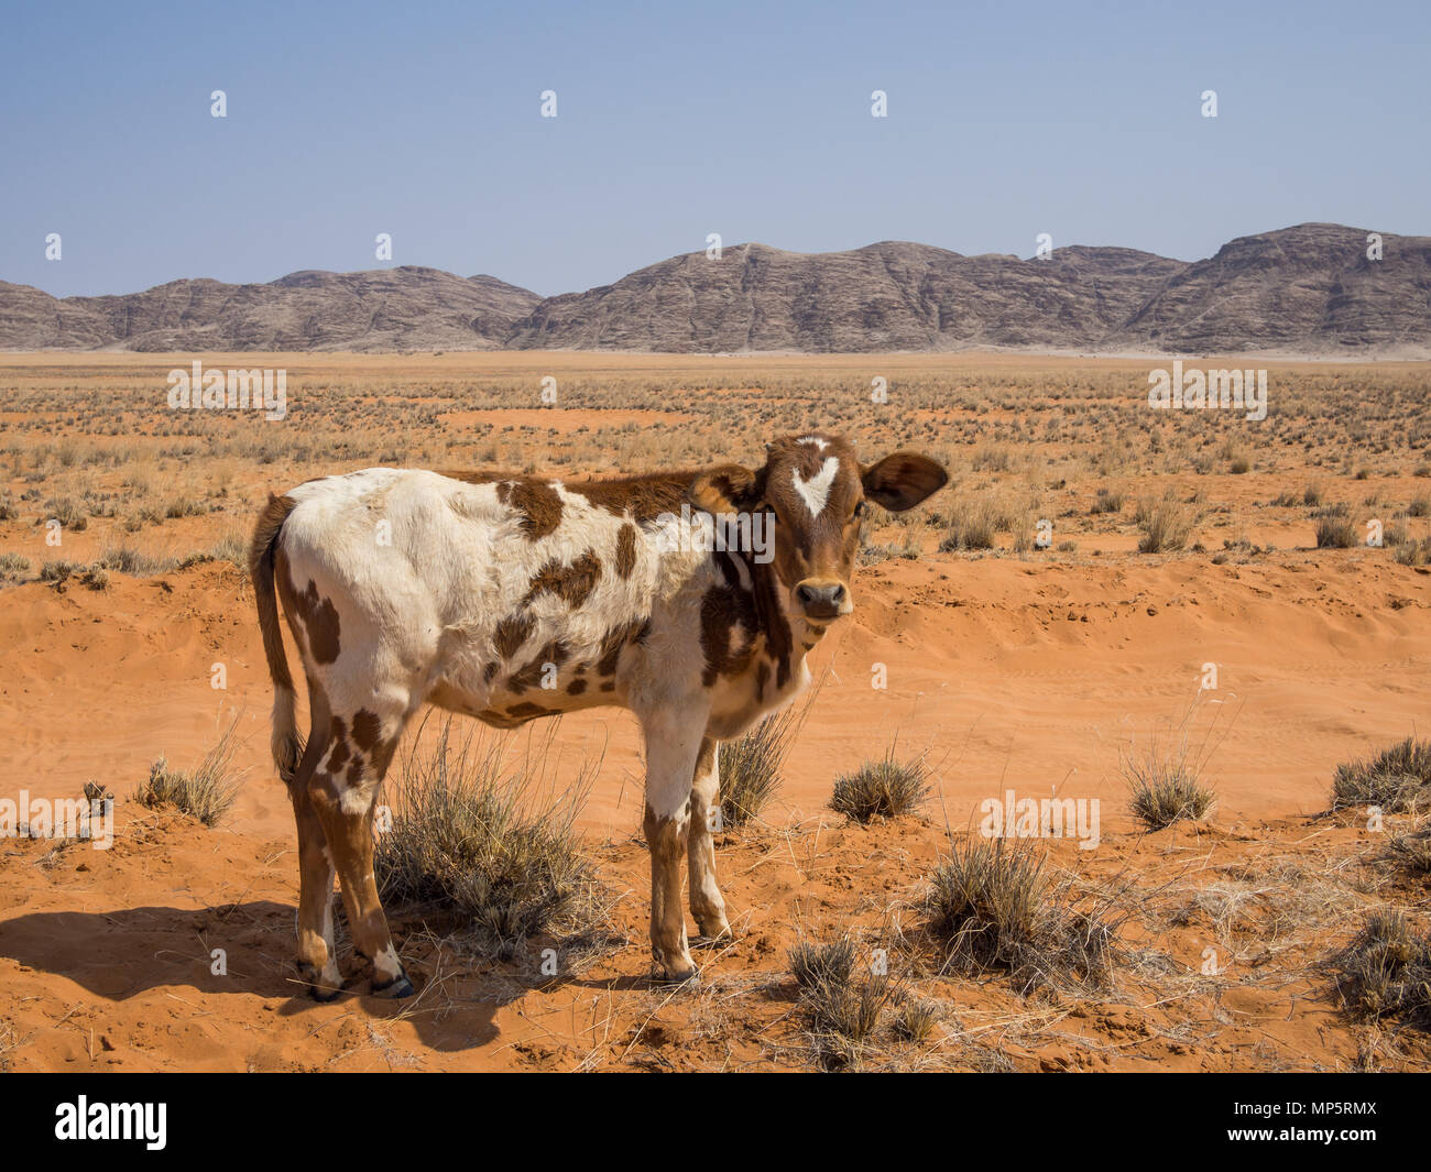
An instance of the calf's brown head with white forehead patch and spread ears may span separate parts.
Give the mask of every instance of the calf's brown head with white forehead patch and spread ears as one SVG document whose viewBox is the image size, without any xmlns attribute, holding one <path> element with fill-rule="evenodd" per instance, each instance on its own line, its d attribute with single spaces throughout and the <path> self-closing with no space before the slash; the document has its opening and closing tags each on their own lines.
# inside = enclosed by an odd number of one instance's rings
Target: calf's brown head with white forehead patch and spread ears
<svg viewBox="0 0 1431 1172">
<path fill-rule="evenodd" d="M 717 515 L 773 514 L 776 575 L 790 610 L 824 624 L 854 610 L 850 578 L 866 502 L 903 512 L 947 481 L 949 474 L 919 452 L 861 465 L 849 441 L 817 432 L 781 436 L 758 471 L 723 465 L 703 472 L 690 497 Z"/>
</svg>

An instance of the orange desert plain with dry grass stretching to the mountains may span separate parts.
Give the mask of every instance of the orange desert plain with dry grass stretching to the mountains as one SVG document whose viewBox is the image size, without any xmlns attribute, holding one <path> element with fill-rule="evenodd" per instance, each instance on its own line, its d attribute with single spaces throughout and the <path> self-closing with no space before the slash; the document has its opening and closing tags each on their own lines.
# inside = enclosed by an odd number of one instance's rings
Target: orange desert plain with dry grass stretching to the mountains
<svg viewBox="0 0 1431 1172">
<path fill-rule="evenodd" d="M 0 839 L 0 1068 L 1431 1069 L 1424 1022 L 1349 1005 L 1335 976 L 1368 917 L 1425 937 L 1404 846 L 1425 810 L 1332 794 L 1338 766 L 1431 726 L 1431 363 L 1183 359 L 1265 366 L 1249 421 L 1149 408 L 1151 358 L 197 355 L 283 369 L 270 421 L 172 409 L 169 372 L 195 358 L 0 355 L 0 797 L 114 797 L 109 849 Z M 641 743 L 595 710 L 451 728 L 517 770 L 539 754 L 552 793 L 580 778 L 584 920 L 494 949 L 389 900 L 418 995 L 368 996 L 341 944 L 349 992 L 309 1000 L 245 568 L 268 494 L 372 465 L 756 465 L 817 428 L 867 459 L 919 448 L 952 479 L 870 518 L 778 788 L 717 834 L 736 937 L 697 953 L 698 987 L 645 979 Z M 193 768 L 225 730 L 218 824 L 135 800 L 159 758 Z M 917 809 L 836 813 L 837 778 L 886 757 L 920 763 Z M 1129 788 L 1149 763 L 1215 804 L 1151 829 Z M 1049 900 L 1110 926 L 1098 980 L 930 950 L 932 873 L 1010 793 L 1096 810 L 1096 834 L 1019 849 Z M 831 1039 L 791 972 L 791 950 L 839 939 L 884 982 L 856 1039 Z"/>
</svg>

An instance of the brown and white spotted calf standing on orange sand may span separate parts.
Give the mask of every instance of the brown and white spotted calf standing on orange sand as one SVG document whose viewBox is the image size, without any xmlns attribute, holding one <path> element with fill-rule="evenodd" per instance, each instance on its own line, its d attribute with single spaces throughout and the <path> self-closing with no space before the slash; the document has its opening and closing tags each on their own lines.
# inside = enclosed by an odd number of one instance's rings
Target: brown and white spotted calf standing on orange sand
<svg viewBox="0 0 1431 1172">
<path fill-rule="evenodd" d="M 807 685 L 806 654 L 854 607 L 864 502 L 897 512 L 946 481 L 927 456 L 866 467 L 819 434 L 777 439 L 758 469 L 564 481 L 369 468 L 270 498 L 249 560 L 273 757 L 298 820 L 298 957 L 315 996 L 342 987 L 335 871 L 373 992 L 412 992 L 373 882 L 372 816 L 424 703 L 499 728 L 601 704 L 637 716 L 654 973 L 694 976 L 683 854 L 701 933 L 730 932 L 711 844 L 717 743 Z M 711 548 L 728 544 L 711 541 L 713 519 L 733 517 L 740 548 Z M 770 541 L 753 548 L 756 537 Z M 306 744 L 278 598 L 308 680 Z"/>
</svg>

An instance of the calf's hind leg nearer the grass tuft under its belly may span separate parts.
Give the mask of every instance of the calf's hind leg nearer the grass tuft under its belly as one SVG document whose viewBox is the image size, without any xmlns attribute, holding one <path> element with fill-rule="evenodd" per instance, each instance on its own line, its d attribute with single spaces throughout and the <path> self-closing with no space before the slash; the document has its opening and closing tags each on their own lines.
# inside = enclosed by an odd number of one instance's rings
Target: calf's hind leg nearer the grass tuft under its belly
<svg viewBox="0 0 1431 1172">
<path fill-rule="evenodd" d="M 309 784 L 342 884 L 353 947 L 372 960 L 372 992 L 406 997 L 412 982 L 388 933 L 388 917 L 372 874 L 372 806 L 392 761 L 406 711 L 359 708 L 332 723 L 332 748 Z"/>
</svg>

